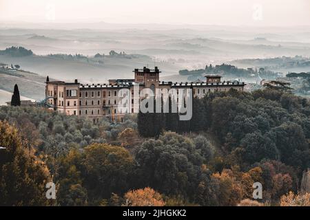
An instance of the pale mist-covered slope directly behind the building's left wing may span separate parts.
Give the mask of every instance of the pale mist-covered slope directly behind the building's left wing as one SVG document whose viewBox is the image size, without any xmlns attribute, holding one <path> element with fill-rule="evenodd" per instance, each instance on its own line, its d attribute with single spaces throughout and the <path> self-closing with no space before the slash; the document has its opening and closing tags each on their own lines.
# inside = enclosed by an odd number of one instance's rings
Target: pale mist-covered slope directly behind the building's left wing
<svg viewBox="0 0 310 220">
<path fill-rule="evenodd" d="M 12 57 L 0 55 L 1 63 L 19 64 L 23 69 L 36 72 L 40 76 L 50 76 L 59 80 L 72 81 L 75 78 L 84 83 L 104 83 L 110 78 L 132 78 L 135 68 L 153 66 L 149 56 L 135 55 L 132 58 L 105 56 L 104 59 L 86 58 L 80 60 L 64 59 L 58 56 L 23 56 Z M 177 65 L 167 62 L 155 63 L 163 75 L 176 74 Z"/>
</svg>

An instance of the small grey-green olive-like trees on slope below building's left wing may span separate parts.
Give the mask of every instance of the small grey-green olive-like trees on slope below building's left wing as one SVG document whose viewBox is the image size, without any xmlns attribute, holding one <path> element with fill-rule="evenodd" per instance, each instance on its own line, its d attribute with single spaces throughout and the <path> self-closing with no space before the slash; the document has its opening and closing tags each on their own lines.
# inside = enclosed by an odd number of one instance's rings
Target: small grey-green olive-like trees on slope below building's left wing
<svg viewBox="0 0 310 220">
<path fill-rule="evenodd" d="M 106 118 L 94 124 L 84 117 L 56 113 L 32 107 L 0 107 L 0 120 L 15 124 L 27 146 L 48 155 L 62 155 L 71 148 L 83 148 L 88 144 L 116 142 L 125 128 L 136 130 L 134 117 L 126 115 L 125 123 L 111 124 Z"/>
</svg>

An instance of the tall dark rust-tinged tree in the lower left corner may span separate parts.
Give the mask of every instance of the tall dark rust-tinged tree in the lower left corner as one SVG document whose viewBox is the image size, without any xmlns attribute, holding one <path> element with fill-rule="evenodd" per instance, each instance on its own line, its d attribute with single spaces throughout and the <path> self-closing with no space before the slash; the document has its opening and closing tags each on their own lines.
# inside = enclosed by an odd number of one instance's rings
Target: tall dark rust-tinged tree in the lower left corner
<svg viewBox="0 0 310 220">
<path fill-rule="evenodd" d="M 14 126 L 0 121 L 0 206 L 45 206 L 48 168 L 25 153 Z"/>
</svg>

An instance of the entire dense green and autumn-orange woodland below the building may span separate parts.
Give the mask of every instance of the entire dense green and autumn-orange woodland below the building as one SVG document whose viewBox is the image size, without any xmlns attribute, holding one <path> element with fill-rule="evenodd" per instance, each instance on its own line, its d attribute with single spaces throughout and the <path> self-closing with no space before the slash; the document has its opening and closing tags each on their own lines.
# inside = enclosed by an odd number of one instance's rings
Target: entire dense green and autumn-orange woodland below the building
<svg viewBox="0 0 310 220">
<path fill-rule="evenodd" d="M 274 89 L 231 89 L 194 99 L 193 111 L 189 121 L 138 113 L 123 124 L 93 124 L 45 109 L 1 107 L 0 203 L 309 205 L 302 184 L 310 166 L 309 100 Z M 14 184 L 25 176 L 32 181 Z M 56 184 L 56 200 L 43 199 L 47 181 Z M 255 201 L 254 182 L 263 186 Z"/>
</svg>

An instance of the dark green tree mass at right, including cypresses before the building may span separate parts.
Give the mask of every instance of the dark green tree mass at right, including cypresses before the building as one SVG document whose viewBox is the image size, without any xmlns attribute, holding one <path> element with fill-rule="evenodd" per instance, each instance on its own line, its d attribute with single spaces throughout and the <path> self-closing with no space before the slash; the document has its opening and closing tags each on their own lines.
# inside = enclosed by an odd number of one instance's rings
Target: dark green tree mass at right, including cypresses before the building
<svg viewBox="0 0 310 220">
<path fill-rule="evenodd" d="M 242 170 L 268 159 L 292 166 L 298 175 L 310 167 L 310 104 L 305 98 L 274 89 L 252 94 L 231 89 L 194 98 L 192 109 L 188 121 L 178 120 L 176 113 L 139 113 L 138 131 L 145 137 L 165 130 L 212 133 L 225 163 Z"/>
</svg>

